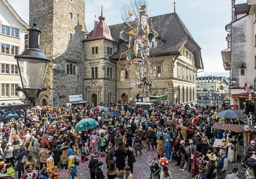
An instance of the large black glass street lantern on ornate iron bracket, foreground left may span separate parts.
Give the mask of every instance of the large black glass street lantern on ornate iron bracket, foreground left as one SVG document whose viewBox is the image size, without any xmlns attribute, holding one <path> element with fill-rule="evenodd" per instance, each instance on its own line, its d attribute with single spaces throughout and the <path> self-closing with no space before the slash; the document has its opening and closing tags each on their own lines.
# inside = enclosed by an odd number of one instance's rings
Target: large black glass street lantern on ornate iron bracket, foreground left
<svg viewBox="0 0 256 179">
<path fill-rule="evenodd" d="M 39 49 L 41 31 L 36 25 L 35 19 L 33 25 L 28 28 L 28 48 L 23 50 L 21 54 L 14 56 L 18 63 L 22 84 L 22 88 L 18 86 L 16 90 L 23 92 L 30 103 L 0 106 L 0 121 L 10 113 L 17 113 L 19 117 L 24 117 L 27 108 L 34 104 L 40 92 L 46 90 L 42 84 L 51 60 L 47 59 Z"/>
</svg>

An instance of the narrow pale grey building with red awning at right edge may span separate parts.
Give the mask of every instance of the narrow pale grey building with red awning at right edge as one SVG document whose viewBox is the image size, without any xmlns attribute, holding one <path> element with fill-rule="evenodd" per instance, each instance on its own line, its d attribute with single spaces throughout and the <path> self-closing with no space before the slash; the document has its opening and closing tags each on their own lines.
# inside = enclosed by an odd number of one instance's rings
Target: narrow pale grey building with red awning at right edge
<svg viewBox="0 0 256 179">
<path fill-rule="evenodd" d="M 225 70 L 230 71 L 231 106 L 237 101 L 239 109 L 244 109 L 249 94 L 244 90 L 244 83 L 256 85 L 256 1 L 235 4 L 232 0 L 232 21 L 226 25 L 229 31 L 226 38 L 228 48 L 221 52 Z M 252 89 L 255 104 L 255 88 Z"/>
</svg>

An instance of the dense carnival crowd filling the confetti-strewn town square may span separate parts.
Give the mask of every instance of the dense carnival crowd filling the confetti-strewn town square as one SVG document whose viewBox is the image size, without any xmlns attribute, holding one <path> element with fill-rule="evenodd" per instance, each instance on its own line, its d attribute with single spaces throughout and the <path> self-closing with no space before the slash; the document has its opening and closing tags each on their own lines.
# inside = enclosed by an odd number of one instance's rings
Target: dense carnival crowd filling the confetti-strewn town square
<svg viewBox="0 0 256 179">
<path fill-rule="evenodd" d="M 149 166 L 151 179 L 172 178 L 167 167 L 159 161 L 165 157 L 175 162 L 180 171 L 188 170 L 192 178 L 236 179 L 238 169 L 226 174 L 228 162 L 237 162 L 238 141 L 233 131 L 212 129 L 216 122 L 255 122 L 225 120 L 213 115 L 221 109 L 215 105 L 180 105 L 155 103 L 154 108 L 127 103 L 125 114 L 102 120 L 104 107 L 120 113 L 116 103 L 80 104 L 60 111 L 31 111 L 25 118 L 12 118 L 0 124 L 0 173 L 20 179 L 59 179 L 59 168 L 68 170 L 67 178 L 77 179 L 77 166 L 88 163 L 91 179 L 132 179 L 133 164 L 138 155 L 156 151 Z M 97 109 L 97 110 L 96 110 Z M 76 131 L 83 118 L 92 118 L 98 126 Z M 225 151 L 220 145 L 212 147 L 214 139 L 228 141 Z M 246 179 L 256 175 L 256 146 L 254 140 L 246 148 Z M 107 171 L 103 171 L 105 158 Z M 105 176 L 107 175 L 107 176 Z"/>
</svg>

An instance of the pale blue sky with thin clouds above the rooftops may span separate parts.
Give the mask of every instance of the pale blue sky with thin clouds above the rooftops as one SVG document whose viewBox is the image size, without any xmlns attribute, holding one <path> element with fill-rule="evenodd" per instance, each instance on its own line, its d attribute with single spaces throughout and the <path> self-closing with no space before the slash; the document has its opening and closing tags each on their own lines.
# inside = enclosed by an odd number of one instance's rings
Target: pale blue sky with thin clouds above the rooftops
<svg viewBox="0 0 256 179">
<path fill-rule="evenodd" d="M 8 0 L 19 16 L 28 23 L 29 0 Z M 236 4 L 246 3 L 247 0 L 236 0 Z M 128 0 L 85 0 L 85 25 L 88 32 L 94 28 L 101 13 L 107 25 L 122 23 L 120 8 L 129 3 Z M 172 0 L 148 0 L 149 16 L 172 13 Z M 227 46 L 225 25 L 231 21 L 231 0 L 176 0 L 176 13 L 188 28 L 197 44 L 202 48 L 204 71 L 197 75 L 226 75 L 221 51 Z"/>
</svg>

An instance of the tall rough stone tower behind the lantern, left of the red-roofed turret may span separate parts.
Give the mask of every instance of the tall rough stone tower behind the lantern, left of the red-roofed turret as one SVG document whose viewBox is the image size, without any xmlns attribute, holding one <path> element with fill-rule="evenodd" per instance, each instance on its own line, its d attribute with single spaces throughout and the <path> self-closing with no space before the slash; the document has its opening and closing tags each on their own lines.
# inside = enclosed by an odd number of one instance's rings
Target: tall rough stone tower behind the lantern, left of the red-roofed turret
<svg viewBox="0 0 256 179">
<path fill-rule="evenodd" d="M 40 50 L 52 60 L 36 105 L 60 106 L 84 92 L 84 0 L 29 0 L 29 24 L 42 31 Z M 53 98 L 57 97 L 54 102 Z M 84 96 L 83 96 L 84 98 Z"/>
</svg>

